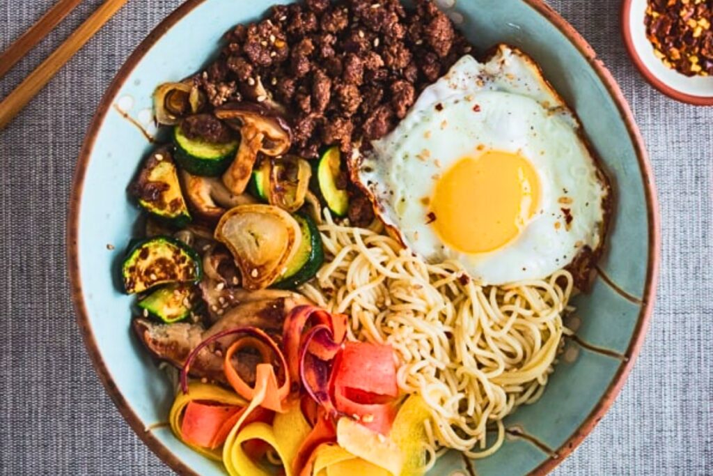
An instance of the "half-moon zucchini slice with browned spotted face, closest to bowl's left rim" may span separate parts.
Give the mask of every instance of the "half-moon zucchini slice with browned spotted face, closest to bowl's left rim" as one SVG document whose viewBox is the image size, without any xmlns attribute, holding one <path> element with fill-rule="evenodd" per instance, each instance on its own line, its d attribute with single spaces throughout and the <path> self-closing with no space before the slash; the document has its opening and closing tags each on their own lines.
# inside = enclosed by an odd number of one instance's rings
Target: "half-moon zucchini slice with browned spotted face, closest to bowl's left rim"
<svg viewBox="0 0 713 476">
<path fill-rule="evenodd" d="M 195 283 L 201 276 L 198 253 L 170 236 L 139 240 L 126 254 L 121 268 L 127 294 L 167 283 Z"/>
</svg>

